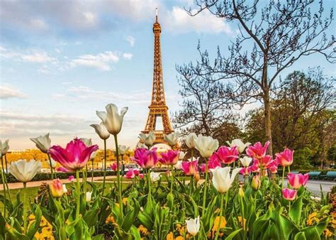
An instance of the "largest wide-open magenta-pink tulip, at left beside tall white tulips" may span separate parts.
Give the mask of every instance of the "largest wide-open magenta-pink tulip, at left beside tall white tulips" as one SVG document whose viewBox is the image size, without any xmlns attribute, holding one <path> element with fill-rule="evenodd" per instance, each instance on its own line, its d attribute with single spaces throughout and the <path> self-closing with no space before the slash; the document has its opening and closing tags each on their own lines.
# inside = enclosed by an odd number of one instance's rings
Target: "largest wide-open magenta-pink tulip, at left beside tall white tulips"
<svg viewBox="0 0 336 240">
<path fill-rule="evenodd" d="M 67 143 L 66 148 L 52 146 L 49 148 L 50 156 L 69 171 L 80 170 L 85 167 L 91 153 L 98 150 L 97 145 L 86 146 L 79 138 Z"/>
</svg>

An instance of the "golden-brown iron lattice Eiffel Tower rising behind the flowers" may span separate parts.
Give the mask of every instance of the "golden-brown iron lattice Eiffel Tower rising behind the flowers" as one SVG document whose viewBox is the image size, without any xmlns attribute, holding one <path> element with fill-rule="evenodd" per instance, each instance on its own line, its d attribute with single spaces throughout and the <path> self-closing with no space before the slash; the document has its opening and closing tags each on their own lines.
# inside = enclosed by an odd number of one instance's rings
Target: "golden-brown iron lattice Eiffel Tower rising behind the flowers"
<svg viewBox="0 0 336 240">
<path fill-rule="evenodd" d="M 147 118 L 145 130 L 142 133 L 155 132 L 155 143 L 166 143 L 164 141 L 164 134 L 172 133 L 172 125 L 170 124 L 168 116 L 168 107 L 164 97 L 164 84 L 162 76 L 162 60 L 161 60 L 161 46 L 160 33 L 161 26 L 156 20 L 153 24 L 154 33 L 154 72 L 153 72 L 153 87 L 152 87 L 152 102 L 148 107 L 150 112 Z M 162 129 L 157 129 L 158 119 L 162 119 Z"/>
</svg>

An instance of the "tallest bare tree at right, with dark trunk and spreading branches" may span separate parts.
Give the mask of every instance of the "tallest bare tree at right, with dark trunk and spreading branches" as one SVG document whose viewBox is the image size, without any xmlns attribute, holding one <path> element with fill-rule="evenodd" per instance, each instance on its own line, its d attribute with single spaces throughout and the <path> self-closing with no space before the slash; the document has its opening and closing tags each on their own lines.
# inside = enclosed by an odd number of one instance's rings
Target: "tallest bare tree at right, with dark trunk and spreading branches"
<svg viewBox="0 0 336 240">
<path fill-rule="evenodd" d="M 187 10 L 190 16 L 210 11 L 218 18 L 236 22 L 239 34 L 225 55 L 218 47 L 213 63 L 208 52 L 198 48 L 201 60 L 184 65 L 184 69 L 204 79 L 210 76 L 213 81 L 235 80 L 233 97 L 240 97 L 242 103 L 251 98 L 261 100 L 264 131 L 271 141 L 270 93 L 280 73 L 298 59 L 315 53 L 335 63 L 336 50 L 331 50 L 335 37 L 325 33 L 333 20 L 332 9 L 324 17 L 323 1 L 315 13 L 310 11 L 313 0 L 269 0 L 264 6 L 258 0 L 251 4 L 246 0 L 195 1 L 198 9 Z M 271 145 L 268 151 L 272 153 Z"/>
</svg>

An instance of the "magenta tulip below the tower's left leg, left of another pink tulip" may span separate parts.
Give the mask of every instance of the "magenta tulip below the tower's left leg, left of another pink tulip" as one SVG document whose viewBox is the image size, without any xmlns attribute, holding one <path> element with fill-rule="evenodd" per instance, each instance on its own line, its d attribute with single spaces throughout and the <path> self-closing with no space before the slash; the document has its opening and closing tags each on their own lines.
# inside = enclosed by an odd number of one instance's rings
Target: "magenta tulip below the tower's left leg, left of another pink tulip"
<svg viewBox="0 0 336 240">
<path fill-rule="evenodd" d="M 134 158 L 131 158 L 138 163 L 141 168 L 152 168 L 157 164 L 157 148 L 152 148 L 152 150 L 147 150 L 146 148 L 137 148 L 134 152 Z"/>
</svg>

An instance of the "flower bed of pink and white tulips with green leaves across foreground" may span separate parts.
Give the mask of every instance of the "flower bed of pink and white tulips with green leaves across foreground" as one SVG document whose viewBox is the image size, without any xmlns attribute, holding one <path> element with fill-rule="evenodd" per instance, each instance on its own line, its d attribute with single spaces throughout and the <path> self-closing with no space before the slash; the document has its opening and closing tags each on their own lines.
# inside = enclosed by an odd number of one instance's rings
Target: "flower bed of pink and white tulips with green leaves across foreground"
<svg viewBox="0 0 336 240">
<path fill-rule="evenodd" d="M 127 148 L 118 145 L 118 134 L 127 111 L 108 104 L 106 111 L 97 111 L 101 123 L 91 125 L 104 143 L 105 163 L 106 142 L 116 146 L 112 183 L 106 181 L 106 174 L 99 184 L 85 178 L 86 165 L 99 148 L 88 139 L 50 146 L 49 134 L 31 138 L 49 156 L 52 181 L 29 202 L 26 185 L 41 163 L 11 162 L 9 173 L 23 186 L 21 195 L 13 198 L 2 168 L 0 200 L 5 207 L 0 214 L 0 239 L 310 240 L 334 236 L 336 212 L 327 197 L 314 199 L 306 188 L 308 174 L 291 173 L 293 151 L 284 148 L 267 155 L 269 142 L 228 139 L 226 146 L 219 146 L 211 136 L 191 133 L 179 138 L 170 133 L 164 136 L 167 149 L 159 151 L 153 146 L 154 133 L 141 133 L 132 157 L 138 168 L 129 169 L 128 183 L 123 182 L 121 156 Z M 3 166 L 8 150 L 8 141 L 1 142 Z M 56 162 L 62 167 L 55 169 Z M 168 171 L 155 172 L 158 164 Z M 55 177 L 56 170 L 73 173 L 67 185 Z"/>
</svg>

